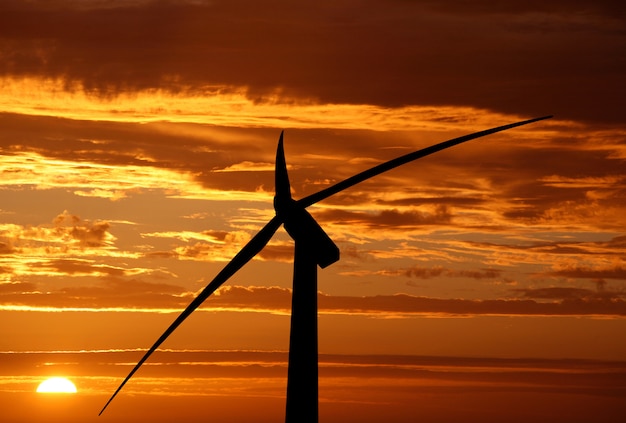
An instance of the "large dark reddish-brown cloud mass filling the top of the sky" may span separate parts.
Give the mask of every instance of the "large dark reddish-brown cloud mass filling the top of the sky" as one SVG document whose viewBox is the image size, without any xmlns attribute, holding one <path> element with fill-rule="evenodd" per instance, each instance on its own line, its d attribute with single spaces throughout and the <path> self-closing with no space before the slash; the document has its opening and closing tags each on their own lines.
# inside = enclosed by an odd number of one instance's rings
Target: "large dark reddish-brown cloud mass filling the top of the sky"
<svg viewBox="0 0 626 423">
<path fill-rule="evenodd" d="M 618 2 L 20 3 L 0 9 L 0 73 L 100 95 L 219 85 L 259 101 L 279 90 L 622 121 Z"/>
</svg>

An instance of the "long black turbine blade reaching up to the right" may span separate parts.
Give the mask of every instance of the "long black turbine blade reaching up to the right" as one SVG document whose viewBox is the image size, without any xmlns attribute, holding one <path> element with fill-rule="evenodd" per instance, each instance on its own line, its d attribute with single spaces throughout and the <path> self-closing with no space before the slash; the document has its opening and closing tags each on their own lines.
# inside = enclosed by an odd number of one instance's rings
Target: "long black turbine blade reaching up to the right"
<svg viewBox="0 0 626 423">
<path fill-rule="evenodd" d="M 551 117 L 552 117 L 551 115 L 542 116 L 542 117 L 538 117 L 534 119 L 524 120 L 521 122 L 510 123 L 508 125 L 498 126 L 498 127 L 486 129 L 480 132 L 474 132 L 473 134 L 464 135 L 462 137 L 444 141 L 439 144 L 431 145 L 430 147 L 426 147 L 421 150 L 414 151 L 413 153 L 405 154 L 404 156 L 400 156 L 393 160 L 389 160 L 388 162 L 379 164 L 378 166 L 374 166 L 368 170 L 365 170 L 361 173 L 351 176 L 348 179 L 345 179 L 331 187 L 318 191 L 315 194 L 311 194 L 308 197 L 304 197 L 298 200 L 297 203 L 301 205 L 302 207 L 309 207 L 310 205 L 320 202 L 332 195 L 335 195 L 338 192 L 343 191 L 344 189 L 350 188 L 360 182 L 363 182 L 374 176 L 380 175 L 383 172 L 387 172 L 388 170 L 394 169 L 403 164 L 412 162 L 413 160 L 421 159 L 422 157 L 431 155 L 441 150 L 445 150 L 446 148 L 454 147 L 455 145 L 459 145 L 461 143 L 464 143 L 464 142 L 467 142 L 476 138 L 495 134 L 496 132 L 506 131 L 507 129 L 515 128 L 517 126 L 527 125 L 529 123 L 537 122 L 540 120 L 549 119 Z"/>
</svg>

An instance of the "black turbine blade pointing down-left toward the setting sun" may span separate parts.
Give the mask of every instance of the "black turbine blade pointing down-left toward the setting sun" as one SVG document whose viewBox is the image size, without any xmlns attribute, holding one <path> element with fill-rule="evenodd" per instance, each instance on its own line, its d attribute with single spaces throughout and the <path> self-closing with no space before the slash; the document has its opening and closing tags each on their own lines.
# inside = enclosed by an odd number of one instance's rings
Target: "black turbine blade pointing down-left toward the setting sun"
<svg viewBox="0 0 626 423">
<path fill-rule="evenodd" d="M 185 310 L 172 322 L 172 324 L 167 328 L 165 332 L 157 339 L 157 341 L 150 347 L 148 351 L 144 354 L 144 356 L 139 360 L 139 362 L 135 365 L 135 367 L 131 370 L 131 372 L 126 376 L 126 379 L 120 384 L 115 393 L 109 398 L 107 403 L 104 405 L 100 413 L 101 415 L 104 410 L 108 407 L 108 405 L 113 401 L 113 399 L 117 396 L 120 390 L 126 385 L 126 382 L 130 380 L 130 378 L 139 370 L 141 365 L 152 355 L 152 353 L 159 348 L 159 346 L 176 330 L 178 326 L 187 318 L 189 315 L 197 309 L 213 292 L 215 292 L 224 282 L 226 282 L 232 275 L 234 275 L 239 269 L 241 269 L 247 262 L 249 262 L 254 256 L 256 256 L 259 251 L 265 247 L 265 245 L 272 238 L 276 230 L 282 224 L 281 219 L 278 216 L 274 216 L 264 227 L 261 229 L 238 253 L 235 257 L 221 270 L 220 273 L 215 276 L 215 278 L 198 294 L 196 298 L 187 306 Z"/>
</svg>

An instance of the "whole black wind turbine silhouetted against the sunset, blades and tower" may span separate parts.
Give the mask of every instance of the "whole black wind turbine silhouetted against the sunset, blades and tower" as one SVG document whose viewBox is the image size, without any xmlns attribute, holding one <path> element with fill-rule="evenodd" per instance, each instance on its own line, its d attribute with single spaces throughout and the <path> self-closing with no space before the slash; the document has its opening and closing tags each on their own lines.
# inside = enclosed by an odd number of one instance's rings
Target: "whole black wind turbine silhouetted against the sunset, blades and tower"
<svg viewBox="0 0 626 423">
<path fill-rule="evenodd" d="M 306 208 L 340 191 L 403 164 L 455 145 L 529 123 L 549 119 L 543 116 L 464 135 L 397 157 L 358 173 L 331 187 L 300 200 L 291 197 L 283 132 L 276 150 L 274 210 L 276 215 L 235 255 L 235 257 L 198 294 L 143 355 L 126 376 L 98 415 L 101 415 L 126 382 L 174 330 L 213 292 L 256 256 L 270 241 L 281 224 L 295 242 L 289 364 L 287 370 L 286 423 L 318 421 L 318 350 L 317 350 L 317 266 L 325 268 L 339 260 L 339 249 Z"/>
</svg>

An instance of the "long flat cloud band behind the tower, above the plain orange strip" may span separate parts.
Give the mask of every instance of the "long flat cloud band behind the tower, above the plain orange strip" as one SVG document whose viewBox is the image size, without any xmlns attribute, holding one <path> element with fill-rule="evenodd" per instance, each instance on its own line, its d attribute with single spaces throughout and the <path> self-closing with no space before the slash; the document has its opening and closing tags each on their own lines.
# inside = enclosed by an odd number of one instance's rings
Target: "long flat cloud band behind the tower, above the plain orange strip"
<svg viewBox="0 0 626 423">
<path fill-rule="evenodd" d="M 178 312 L 195 294 L 170 284 L 107 277 L 94 286 L 67 287 L 50 292 L 23 293 L 20 286 L 0 290 L 0 308 L 15 307 Z M 6 291 L 6 292 L 4 292 Z M 467 300 L 428 298 L 407 294 L 335 296 L 318 294 L 320 313 L 365 314 L 372 317 L 418 315 L 605 315 L 626 316 L 626 300 L 618 293 L 576 289 L 516 289 L 527 299 Z M 541 301 L 537 301 L 541 300 Z M 546 301 L 549 300 L 549 301 Z M 204 310 L 288 313 L 291 290 L 280 287 L 231 286 L 220 288 L 202 306 Z"/>
</svg>

